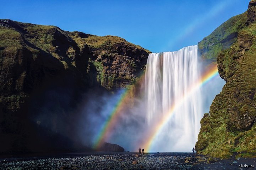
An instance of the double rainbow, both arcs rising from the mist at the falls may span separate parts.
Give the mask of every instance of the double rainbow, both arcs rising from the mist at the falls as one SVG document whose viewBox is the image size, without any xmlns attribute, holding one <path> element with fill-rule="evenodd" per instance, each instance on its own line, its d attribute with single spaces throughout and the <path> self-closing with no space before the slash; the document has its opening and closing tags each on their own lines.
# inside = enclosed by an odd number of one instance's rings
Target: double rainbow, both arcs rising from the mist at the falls
<svg viewBox="0 0 256 170">
<path fill-rule="evenodd" d="M 208 69 L 205 71 L 205 73 L 197 82 L 195 82 L 190 87 L 187 93 L 184 96 L 181 96 L 180 99 L 176 100 L 175 104 L 170 107 L 169 111 L 164 114 L 162 119 L 151 129 L 149 129 L 149 133 L 147 135 L 148 137 L 145 138 L 142 143 L 139 143 L 139 145 L 142 144 L 141 146 L 147 148 L 147 150 L 150 151 L 151 145 L 153 144 L 154 140 L 156 139 L 162 128 L 169 122 L 175 110 L 178 109 L 193 94 L 193 92 L 195 92 L 198 88 L 210 81 L 213 77 L 216 77 L 218 75 L 219 74 L 217 64 L 212 64 L 208 66 Z M 102 130 L 98 133 L 97 140 L 94 143 L 94 149 L 98 149 L 104 143 L 104 141 L 108 139 L 108 137 L 111 135 L 112 129 L 119 122 L 121 110 L 125 107 L 127 103 L 127 98 L 129 98 L 129 95 L 127 94 L 130 94 L 130 90 L 132 90 L 132 88 L 125 90 L 125 92 L 122 93 L 120 100 L 114 107 Z"/>
</svg>

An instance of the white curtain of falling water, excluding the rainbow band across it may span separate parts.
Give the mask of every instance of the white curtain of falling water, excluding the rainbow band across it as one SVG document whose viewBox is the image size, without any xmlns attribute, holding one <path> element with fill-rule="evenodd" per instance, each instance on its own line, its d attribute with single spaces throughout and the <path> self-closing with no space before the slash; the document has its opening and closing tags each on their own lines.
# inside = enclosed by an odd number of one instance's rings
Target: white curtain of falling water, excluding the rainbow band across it
<svg viewBox="0 0 256 170">
<path fill-rule="evenodd" d="M 159 132 L 152 151 L 187 152 L 195 146 L 202 117 L 202 96 L 200 88 L 191 92 L 191 87 L 199 77 L 197 46 L 148 56 L 145 75 L 148 126 L 158 124 L 175 104 L 180 104 Z M 192 94 L 184 98 L 188 93 Z"/>
</svg>

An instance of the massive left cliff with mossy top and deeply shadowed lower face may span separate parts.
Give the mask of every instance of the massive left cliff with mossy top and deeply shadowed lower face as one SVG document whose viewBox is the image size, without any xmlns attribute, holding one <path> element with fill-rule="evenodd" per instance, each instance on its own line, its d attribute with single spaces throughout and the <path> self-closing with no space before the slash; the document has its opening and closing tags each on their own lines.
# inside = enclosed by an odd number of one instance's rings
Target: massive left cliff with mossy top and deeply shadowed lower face
<svg viewBox="0 0 256 170">
<path fill-rule="evenodd" d="M 76 134 L 81 100 L 132 84 L 149 53 L 116 36 L 0 19 L 0 152 L 88 149 Z"/>
</svg>

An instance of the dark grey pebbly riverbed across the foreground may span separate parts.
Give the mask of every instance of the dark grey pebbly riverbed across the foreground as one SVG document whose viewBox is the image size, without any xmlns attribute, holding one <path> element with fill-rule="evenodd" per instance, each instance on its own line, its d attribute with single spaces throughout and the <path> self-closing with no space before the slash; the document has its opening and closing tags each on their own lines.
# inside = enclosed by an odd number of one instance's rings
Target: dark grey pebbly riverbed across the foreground
<svg viewBox="0 0 256 170">
<path fill-rule="evenodd" d="M 235 170 L 256 169 L 255 158 L 218 160 L 192 153 L 120 153 L 66 156 L 61 158 L 1 159 L 1 170 Z M 254 167 L 244 167 L 244 165 Z M 239 166 L 243 165 L 243 167 Z"/>
</svg>

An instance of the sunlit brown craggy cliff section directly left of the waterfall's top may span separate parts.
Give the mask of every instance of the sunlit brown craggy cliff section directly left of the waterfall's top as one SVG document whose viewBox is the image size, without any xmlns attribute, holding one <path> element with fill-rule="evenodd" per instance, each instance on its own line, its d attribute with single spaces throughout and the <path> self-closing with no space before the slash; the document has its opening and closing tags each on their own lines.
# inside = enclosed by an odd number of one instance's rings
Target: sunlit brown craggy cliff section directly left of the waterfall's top
<svg viewBox="0 0 256 170">
<path fill-rule="evenodd" d="M 77 41 L 76 37 L 73 39 Z M 78 41 L 88 45 L 92 54 L 88 69 L 96 69 L 97 82 L 108 90 L 125 88 L 127 84 L 134 83 L 145 70 L 148 54 L 151 53 L 117 36 L 89 35 Z"/>
</svg>

